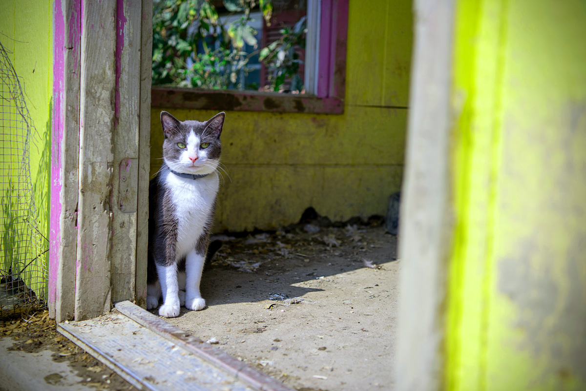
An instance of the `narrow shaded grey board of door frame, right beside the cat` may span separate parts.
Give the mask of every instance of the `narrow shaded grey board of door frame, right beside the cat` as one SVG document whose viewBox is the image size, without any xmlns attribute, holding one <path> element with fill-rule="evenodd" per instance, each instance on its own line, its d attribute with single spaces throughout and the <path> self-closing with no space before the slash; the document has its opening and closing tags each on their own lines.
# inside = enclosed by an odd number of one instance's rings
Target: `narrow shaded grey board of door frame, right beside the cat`
<svg viewBox="0 0 586 391">
<path fill-rule="evenodd" d="M 148 182 L 151 167 L 152 0 L 142 0 L 141 74 L 138 135 L 138 199 L 136 293 L 138 306 L 147 306 Z"/>
</svg>

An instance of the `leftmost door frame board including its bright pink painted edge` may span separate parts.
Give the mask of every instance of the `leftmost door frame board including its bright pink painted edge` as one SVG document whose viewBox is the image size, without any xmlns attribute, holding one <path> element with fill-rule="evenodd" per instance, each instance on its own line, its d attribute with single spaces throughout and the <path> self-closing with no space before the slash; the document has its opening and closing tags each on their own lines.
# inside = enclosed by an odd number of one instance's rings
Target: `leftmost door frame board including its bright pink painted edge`
<svg viewBox="0 0 586 391">
<path fill-rule="evenodd" d="M 54 6 L 53 169 L 50 276 L 51 316 L 71 319 L 75 308 L 77 258 L 77 201 L 79 197 L 81 2 L 59 1 Z M 62 18 L 62 20 L 57 20 Z M 63 23 L 57 26 L 57 23 Z M 61 37 L 62 35 L 62 37 Z M 67 49 L 69 48 L 69 49 Z M 58 64 L 62 63 L 62 68 Z M 62 81 L 62 84 L 60 83 Z M 62 129 L 62 131 L 60 131 Z M 55 232 L 53 232 L 55 231 Z M 50 290 L 51 291 L 51 290 Z M 54 311 L 54 313 L 53 313 Z"/>
</svg>

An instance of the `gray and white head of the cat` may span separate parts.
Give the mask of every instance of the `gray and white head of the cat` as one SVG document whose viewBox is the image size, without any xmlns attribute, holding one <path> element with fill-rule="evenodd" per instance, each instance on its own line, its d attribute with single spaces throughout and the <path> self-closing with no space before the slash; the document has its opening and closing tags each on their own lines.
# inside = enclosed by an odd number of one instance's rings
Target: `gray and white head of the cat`
<svg viewBox="0 0 586 391">
<path fill-rule="evenodd" d="M 179 121 L 161 112 L 163 160 L 175 172 L 209 174 L 220 164 L 220 134 L 226 114 L 221 112 L 206 122 Z"/>
</svg>

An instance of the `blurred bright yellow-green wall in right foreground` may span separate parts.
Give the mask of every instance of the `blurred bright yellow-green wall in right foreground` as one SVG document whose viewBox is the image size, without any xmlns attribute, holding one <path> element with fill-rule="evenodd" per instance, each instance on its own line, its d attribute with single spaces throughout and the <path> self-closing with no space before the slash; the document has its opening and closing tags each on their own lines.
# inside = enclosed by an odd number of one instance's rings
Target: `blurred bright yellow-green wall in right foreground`
<svg viewBox="0 0 586 391">
<path fill-rule="evenodd" d="M 456 1 L 445 389 L 586 389 L 586 4 Z"/>
</svg>

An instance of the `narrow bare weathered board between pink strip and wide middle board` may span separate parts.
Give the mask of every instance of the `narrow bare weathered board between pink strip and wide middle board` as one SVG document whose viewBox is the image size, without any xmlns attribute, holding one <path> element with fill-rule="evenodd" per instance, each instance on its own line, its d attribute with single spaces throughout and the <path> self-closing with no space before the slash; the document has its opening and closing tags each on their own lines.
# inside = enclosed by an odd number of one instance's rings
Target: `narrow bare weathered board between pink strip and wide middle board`
<svg viewBox="0 0 586 391">
<path fill-rule="evenodd" d="M 66 73 L 64 75 L 65 126 L 62 144 L 62 188 L 61 188 L 61 242 L 57 248 L 59 271 L 57 272 L 57 295 L 55 320 L 72 319 L 75 308 L 75 281 L 77 253 L 77 200 L 79 195 L 79 131 L 80 131 L 80 49 L 81 49 L 81 3 L 68 0 L 65 10 Z M 65 49 L 63 49 L 65 50 Z"/>
</svg>

